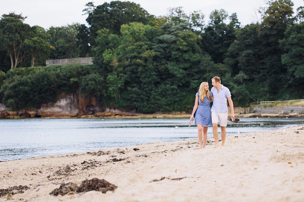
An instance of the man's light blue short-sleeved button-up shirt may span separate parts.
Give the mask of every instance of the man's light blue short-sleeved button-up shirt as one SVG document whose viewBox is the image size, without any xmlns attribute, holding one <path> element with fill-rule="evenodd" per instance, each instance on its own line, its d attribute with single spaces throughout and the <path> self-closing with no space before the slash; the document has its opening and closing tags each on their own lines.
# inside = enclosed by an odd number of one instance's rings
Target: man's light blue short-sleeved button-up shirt
<svg viewBox="0 0 304 202">
<path fill-rule="evenodd" d="M 222 88 L 218 91 L 217 88 L 212 87 L 210 94 L 213 95 L 213 105 L 211 110 L 216 113 L 227 112 L 227 98 L 231 97 L 230 90 L 222 85 Z"/>
</svg>

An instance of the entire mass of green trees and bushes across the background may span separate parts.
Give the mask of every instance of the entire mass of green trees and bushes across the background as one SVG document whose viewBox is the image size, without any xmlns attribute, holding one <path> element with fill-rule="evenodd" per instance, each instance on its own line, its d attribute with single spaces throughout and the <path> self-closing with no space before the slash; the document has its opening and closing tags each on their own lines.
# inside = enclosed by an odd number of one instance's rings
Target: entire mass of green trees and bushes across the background
<svg viewBox="0 0 304 202">
<path fill-rule="evenodd" d="M 236 13 L 223 9 L 205 25 L 200 11 L 169 8 L 166 16 L 154 17 L 139 4 L 120 1 L 87 3 L 90 27 L 45 30 L 24 24 L 22 15 L 3 15 L 0 102 L 39 108 L 66 92 L 93 96 L 100 107 L 191 111 L 200 83 L 214 76 L 236 106 L 303 98 L 304 7 L 294 14 L 290 0 L 267 3 L 259 10 L 261 22 L 244 27 Z M 94 65 L 16 68 L 89 56 Z"/>
</svg>

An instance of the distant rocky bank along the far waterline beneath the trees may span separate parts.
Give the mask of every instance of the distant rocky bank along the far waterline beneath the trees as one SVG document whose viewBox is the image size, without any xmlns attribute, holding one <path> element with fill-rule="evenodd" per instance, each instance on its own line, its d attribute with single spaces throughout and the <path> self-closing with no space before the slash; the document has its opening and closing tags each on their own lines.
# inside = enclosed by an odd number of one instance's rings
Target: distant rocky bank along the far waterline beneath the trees
<svg viewBox="0 0 304 202">
<path fill-rule="evenodd" d="M 283 106 L 263 107 L 252 106 L 248 108 L 235 107 L 236 117 L 304 117 L 304 107 Z M 228 107 L 228 116 L 231 110 Z M 191 112 L 156 112 L 142 114 L 136 111 L 123 109 L 99 108 L 95 99 L 76 97 L 74 94 L 62 94 L 55 104 L 45 104 L 40 109 L 10 111 L 0 103 L 0 119 L 23 118 L 186 118 Z"/>
</svg>

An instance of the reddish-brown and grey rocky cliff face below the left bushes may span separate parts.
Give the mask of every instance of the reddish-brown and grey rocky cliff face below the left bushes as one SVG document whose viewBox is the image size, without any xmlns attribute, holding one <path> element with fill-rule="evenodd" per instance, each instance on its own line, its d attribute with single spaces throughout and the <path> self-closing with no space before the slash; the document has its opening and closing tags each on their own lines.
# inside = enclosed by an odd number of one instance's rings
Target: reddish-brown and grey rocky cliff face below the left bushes
<svg viewBox="0 0 304 202">
<path fill-rule="evenodd" d="M 55 104 L 44 104 L 39 110 L 11 112 L 0 103 L 0 118 L 76 117 L 100 111 L 95 98 L 82 94 L 62 94 Z"/>
</svg>

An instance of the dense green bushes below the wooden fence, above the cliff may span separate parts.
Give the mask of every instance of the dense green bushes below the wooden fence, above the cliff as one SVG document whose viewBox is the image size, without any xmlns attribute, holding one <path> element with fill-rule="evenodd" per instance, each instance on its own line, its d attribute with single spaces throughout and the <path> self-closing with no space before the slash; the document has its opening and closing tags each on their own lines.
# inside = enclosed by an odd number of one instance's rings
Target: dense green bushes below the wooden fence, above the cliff
<svg viewBox="0 0 304 202">
<path fill-rule="evenodd" d="M 55 102 L 62 92 L 76 93 L 79 88 L 100 96 L 104 91 L 103 78 L 94 74 L 94 69 L 94 66 L 66 65 L 17 68 L 5 76 L 0 72 L 0 80 L 4 78 L 0 100 L 12 110 L 18 110 L 39 109 L 41 104 Z"/>
</svg>

